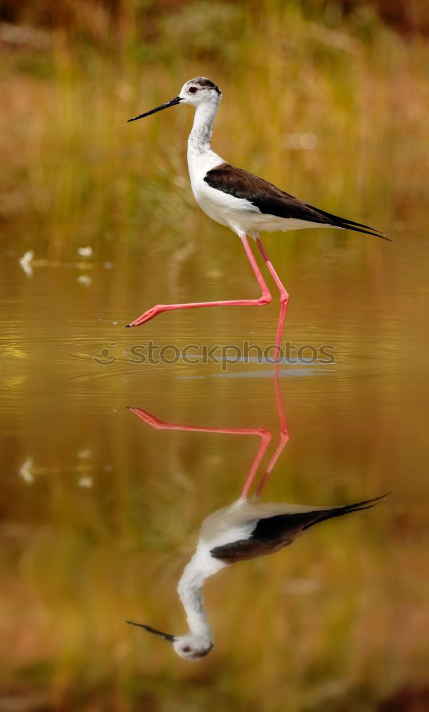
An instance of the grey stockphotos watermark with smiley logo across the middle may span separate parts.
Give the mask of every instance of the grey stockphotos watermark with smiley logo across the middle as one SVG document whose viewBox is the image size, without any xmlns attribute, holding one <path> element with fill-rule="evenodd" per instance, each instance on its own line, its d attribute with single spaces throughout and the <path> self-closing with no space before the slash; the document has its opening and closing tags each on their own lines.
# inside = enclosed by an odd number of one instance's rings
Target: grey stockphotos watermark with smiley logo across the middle
<svg viewBox="0 0 429 712">
<path fill-rule="evenodd" d="M 280 346 L 279 360 L 289 365 L 332 365 L 335 363 L 335 347 L 332 344 L 292 344 L 285 341 Z M 132 366 L 143 365 L 174 365 L 176 363 L 207 364 L 214 363 L 221 366 L 221 370 L 228 370 L 228 366 L 237 363 L 265 363 L 275 364 L 275 345 L 260 346 L 250 341 L 240 344 L 223 344 L 209 346 L 207 344 L 186 344 L 179 347 L 176 344 L 159 345 L 154 341 L 144 344 L 134 344 L 120 352 L 117 342 L 111 342 L 108 347 L 100 350 L 100 354 L 92 357 L 100 366 L 111 366 L 117 360 L 126 361 Z"/>
</svg>

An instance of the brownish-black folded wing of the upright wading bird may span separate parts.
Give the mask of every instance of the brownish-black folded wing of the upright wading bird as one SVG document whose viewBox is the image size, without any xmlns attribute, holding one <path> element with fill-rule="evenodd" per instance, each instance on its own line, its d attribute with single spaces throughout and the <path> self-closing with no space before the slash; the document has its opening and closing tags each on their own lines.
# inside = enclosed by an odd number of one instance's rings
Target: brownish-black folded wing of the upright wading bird
<svg viewBox="0 0 429 712">
<path fill-rule="evenodd" d="M 235 168 L 229 163 L 223 163 L 217 168 L 208 171 L 204 180 L 211 188 L 221 190 L 224 193 L 233 195 L 235 198 L 248 200 L 264 214 L 275 215 L 280 218 L 306 220 L 312 224 L 332 225 L 333 227 L 364 232 L 368 235 L 388 240 L 388 237 L 369 225 L 346 220 L 338 215 L 333 215 L 308 205 L 263 178 L 248 173 L 241 168 Z"/>
</svg>

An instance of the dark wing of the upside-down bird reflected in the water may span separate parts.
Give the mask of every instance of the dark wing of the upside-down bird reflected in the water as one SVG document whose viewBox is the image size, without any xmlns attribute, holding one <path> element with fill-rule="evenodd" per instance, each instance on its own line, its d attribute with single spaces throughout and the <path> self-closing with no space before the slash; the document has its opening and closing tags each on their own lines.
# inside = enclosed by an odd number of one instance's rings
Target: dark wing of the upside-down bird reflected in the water
<svg viewBox="0 0 429 712">
<path fill-rule="evenodd" d="M 329 509 L 314 509 L 309 512 L 292 514 L 277 514 L 274 517 L 259 519 L 249 539 L 241 539 L 230 544 L 216 546 L 211 549 L 211 555 L 217 559 L 232 564 L 235 561 L 253 559 L 258 556 L 272 554 L 292 542 L 314 524 L 324 522 L 344 514 L 369 509 L 386 498 L 387 494 L 373 499 L 366 499 L 354 504 Z"/>
</svg>

